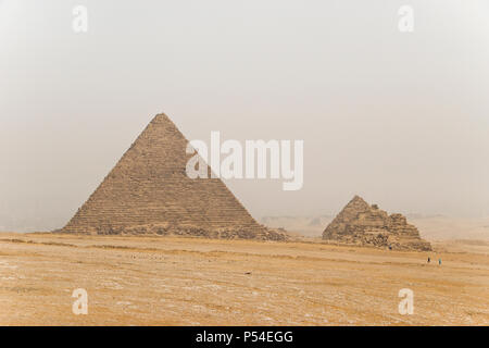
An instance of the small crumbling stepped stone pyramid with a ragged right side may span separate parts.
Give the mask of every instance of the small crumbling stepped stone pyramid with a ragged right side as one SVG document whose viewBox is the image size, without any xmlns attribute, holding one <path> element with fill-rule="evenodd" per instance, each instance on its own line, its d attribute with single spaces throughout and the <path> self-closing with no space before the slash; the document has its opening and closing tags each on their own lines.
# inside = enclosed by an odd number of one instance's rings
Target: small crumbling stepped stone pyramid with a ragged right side
<svg viewBox="0 0 489 348">
<path fill-rule="evenodd" d="M 431 250 L 402 214 L 388 214 L 355 196 L 323 232 L 323 239 L 392 249 Z"/>
</svg>

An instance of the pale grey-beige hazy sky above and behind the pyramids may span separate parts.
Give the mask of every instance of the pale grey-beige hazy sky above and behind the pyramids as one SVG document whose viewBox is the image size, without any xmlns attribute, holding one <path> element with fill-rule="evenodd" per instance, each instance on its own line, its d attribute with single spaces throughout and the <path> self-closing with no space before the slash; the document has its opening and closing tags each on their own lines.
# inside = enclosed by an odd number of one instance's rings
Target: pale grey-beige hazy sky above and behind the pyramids
<svg viewBox="0 0 489 348">
<path fill-rule="evenodd" d="M 226 182 L 255 217 L 489 215 L 489 2 L 0 0 L 0 229 L 63 226 L 159 112 L 304 140 L 302 190 Z"/>
</svg>

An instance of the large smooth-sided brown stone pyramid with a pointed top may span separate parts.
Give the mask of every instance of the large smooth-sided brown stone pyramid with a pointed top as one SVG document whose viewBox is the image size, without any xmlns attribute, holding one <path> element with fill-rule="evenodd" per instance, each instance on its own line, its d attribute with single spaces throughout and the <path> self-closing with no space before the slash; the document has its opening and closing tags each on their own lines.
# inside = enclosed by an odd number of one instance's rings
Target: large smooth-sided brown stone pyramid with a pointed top
<svg viewBox="0 0 489 348">
<path fill-rule="evenodd" d="M 189 178 L 187 145 L 165 114 L 156 115 L 62 231 L 285 238 L 258 224 L 220 178 Z"/>
</svg>

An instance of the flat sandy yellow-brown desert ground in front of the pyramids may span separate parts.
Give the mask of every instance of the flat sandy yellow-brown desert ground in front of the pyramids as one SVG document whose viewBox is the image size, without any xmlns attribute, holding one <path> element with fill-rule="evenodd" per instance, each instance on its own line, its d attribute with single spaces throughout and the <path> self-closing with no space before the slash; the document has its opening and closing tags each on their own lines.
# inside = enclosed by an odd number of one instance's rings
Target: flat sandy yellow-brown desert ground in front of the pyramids
<svg viewBox="0 0 489 348">
<path fill-rule="evenodd" d="M 488 325 L 489 243 L 434 247 L 2 233 L 0 324 Z"/>
</svg>

